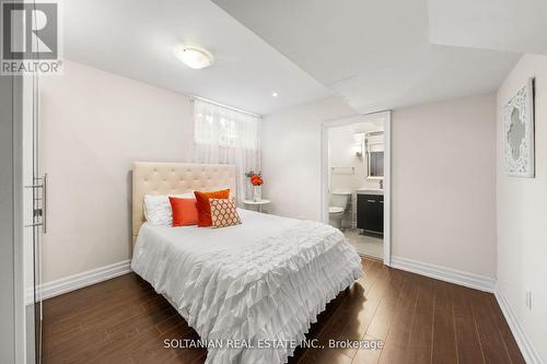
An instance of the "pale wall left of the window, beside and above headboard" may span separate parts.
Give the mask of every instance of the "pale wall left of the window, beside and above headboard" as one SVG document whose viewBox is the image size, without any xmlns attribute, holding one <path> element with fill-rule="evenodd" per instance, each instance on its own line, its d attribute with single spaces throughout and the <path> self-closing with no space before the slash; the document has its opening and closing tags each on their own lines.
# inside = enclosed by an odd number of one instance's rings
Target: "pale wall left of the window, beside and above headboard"
<svg viewBox="0 0 547 364">
<path fill-rule="evenodd" d="M 130 257 L 133 161 L 189 161 L 190 101 L 66 61 L 40 79 L 49 176 L 44 282 Z"/>
</svg>

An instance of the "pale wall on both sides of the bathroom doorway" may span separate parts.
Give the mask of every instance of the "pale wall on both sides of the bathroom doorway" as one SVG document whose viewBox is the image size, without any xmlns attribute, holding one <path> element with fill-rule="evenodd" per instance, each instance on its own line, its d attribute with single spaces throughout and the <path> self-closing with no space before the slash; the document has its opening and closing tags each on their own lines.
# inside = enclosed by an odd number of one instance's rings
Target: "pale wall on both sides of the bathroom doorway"
<svg viewBox="0 0 547 364">
<path fill-rule="evenodd" d="M 321 124 L 352 113 L 327 99 L 264 120 L 272 212 L 321 220 Z M 392 130 L 393 255 L 493 278 L 494 95 L 395 110 Z"/>
</svg>

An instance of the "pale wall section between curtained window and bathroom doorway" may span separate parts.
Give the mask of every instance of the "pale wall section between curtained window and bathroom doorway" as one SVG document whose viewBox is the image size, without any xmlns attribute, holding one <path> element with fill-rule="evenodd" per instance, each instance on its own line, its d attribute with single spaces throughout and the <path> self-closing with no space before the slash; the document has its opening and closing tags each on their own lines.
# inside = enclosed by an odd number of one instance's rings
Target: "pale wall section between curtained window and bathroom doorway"
<svg viewBox="0 0 547 364">
<path fill-rule="evenodd" d="M 270 212 L 321 221 L 321 125 L 351 115 L 345 103 L 328 98 L 264 118 L 263 189 Z"/>
</svg>

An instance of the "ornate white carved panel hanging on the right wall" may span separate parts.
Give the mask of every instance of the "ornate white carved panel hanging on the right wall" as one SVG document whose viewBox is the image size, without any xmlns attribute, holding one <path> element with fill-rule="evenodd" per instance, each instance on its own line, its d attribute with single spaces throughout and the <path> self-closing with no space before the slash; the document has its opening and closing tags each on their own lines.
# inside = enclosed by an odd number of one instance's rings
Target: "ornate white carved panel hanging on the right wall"
<svg viewBox="0 0 547 364">
<path fill-rule="evenodd" d="M 503 106 L 504 165 L 509 176 L 533 178 L 534 79 L 528 79 Z"/>
</svg>

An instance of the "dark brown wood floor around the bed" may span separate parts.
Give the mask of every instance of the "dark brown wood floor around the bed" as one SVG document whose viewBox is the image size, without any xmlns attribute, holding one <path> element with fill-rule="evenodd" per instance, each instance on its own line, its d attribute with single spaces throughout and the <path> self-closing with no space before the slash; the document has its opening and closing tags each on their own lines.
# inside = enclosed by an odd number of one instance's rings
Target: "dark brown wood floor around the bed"
<svg viewBox="0 0 547 364">
<path fill-rule="evenodd" d="M 492 294 L 363 260 L 366 277 L 342 292 L 309 339 L 381 340 L 382 350 L 298 349 L 289 363 L 524 363 Z M 202 363 L 206 350 L 164 349 L 198 338 L 133 273 L 44 304 L 45 363 Z"/>
</svg>

